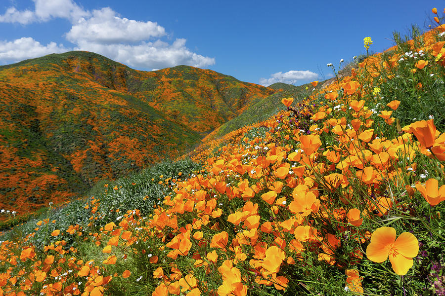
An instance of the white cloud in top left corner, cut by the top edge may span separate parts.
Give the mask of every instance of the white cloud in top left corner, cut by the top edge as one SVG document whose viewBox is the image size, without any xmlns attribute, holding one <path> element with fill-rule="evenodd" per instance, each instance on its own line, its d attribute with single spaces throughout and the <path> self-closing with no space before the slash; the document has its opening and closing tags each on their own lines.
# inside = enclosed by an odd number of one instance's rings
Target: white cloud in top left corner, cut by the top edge
<svg viewBox="0 0 445 296">
<path fill-rule="evenodd" d="M 19 23 L 26 25 L 32 22 L 46 22 L 51 18 L 66 18 L 76 22 L 81 17 L 89 16 L 89 11 L 84 10 L 72 0 L 33 0 L 34 11 L 19 11 L 15 7 L 9 7 L 3 15 L 0 15 L 1 23 Z"/>
</svg>

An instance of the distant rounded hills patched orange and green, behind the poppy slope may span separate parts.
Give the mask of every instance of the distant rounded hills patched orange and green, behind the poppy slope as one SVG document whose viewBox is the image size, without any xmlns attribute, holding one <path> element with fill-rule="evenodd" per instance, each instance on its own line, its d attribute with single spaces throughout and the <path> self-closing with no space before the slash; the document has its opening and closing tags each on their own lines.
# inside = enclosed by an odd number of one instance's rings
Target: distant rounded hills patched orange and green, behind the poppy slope
<svg viewBox="0 0 445 296">
<path fill-rule="evenodd" d="M 0 66 L 0 209 L 18 214 L 174 157 L 275 90 L 72 51 Z"/>
</svg>

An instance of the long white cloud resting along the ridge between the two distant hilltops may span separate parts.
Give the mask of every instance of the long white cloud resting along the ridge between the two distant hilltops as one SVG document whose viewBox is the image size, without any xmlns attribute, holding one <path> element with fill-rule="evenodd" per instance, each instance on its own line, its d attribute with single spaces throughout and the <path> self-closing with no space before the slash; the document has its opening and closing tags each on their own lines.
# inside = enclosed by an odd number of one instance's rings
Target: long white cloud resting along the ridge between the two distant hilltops
<svg viewBox="0 0 445 296">
<path fill-rule="evenodd" d="M 185 47 L 185 39 L 176 39 L 172 45 L 162 41 L 141 42 L 137 45 L 80 42 L 75 49 L 96 52 L 137 68 L 162 69 L 178 65 L 202 68 L 215 64 L 214 58 L 191 52 Z"/>
</svg>

